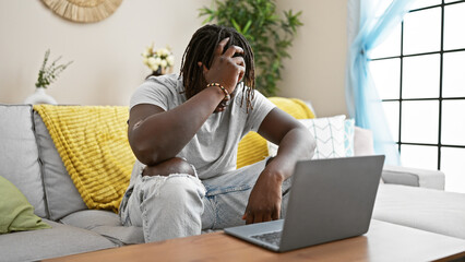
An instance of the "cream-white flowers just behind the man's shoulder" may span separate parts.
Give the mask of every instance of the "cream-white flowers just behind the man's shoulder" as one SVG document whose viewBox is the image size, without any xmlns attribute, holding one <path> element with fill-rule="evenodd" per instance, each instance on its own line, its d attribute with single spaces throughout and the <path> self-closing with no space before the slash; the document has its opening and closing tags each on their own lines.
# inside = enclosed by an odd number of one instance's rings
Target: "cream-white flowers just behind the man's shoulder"
<svg viewBox="0 0 465 262">
<path fill-rule="evenodd" d="M 172 56 L 171 48 L 168 46 L 166 48 L 155 49 L 152 43 L 142 53 L 142 61 L 152 70 L 148 76 L 158 76 L 171 72 L 172 66 L 175 64 L 175 57 Z"/>
</svg>

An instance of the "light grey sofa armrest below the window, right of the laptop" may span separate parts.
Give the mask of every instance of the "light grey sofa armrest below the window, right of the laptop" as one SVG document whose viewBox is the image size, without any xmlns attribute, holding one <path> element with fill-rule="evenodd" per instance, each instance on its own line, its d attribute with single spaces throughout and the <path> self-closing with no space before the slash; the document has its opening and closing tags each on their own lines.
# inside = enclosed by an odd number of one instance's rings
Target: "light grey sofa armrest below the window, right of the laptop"
<svg viewBox="0 0 465 262">
<path fill-rule="evenodd" d="M 384 166 L 382 180 L 385 183 L 444 190 L 445 176 L 444 172 L 438 170 Z"/>
</svg>

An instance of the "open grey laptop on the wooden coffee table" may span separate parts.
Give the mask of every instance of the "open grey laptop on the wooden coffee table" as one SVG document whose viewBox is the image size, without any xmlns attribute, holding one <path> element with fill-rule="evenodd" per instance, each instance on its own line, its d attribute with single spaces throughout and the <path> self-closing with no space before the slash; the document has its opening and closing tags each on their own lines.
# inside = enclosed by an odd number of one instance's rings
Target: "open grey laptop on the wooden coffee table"
<svg viewBox="0 0 465 262">
<path fill-rule="evenodd" d="M 285 219 L 225 228 L 225 233 L 285 252 L 363 235 L 384 155 L 298 162 Z"/>
</svg>

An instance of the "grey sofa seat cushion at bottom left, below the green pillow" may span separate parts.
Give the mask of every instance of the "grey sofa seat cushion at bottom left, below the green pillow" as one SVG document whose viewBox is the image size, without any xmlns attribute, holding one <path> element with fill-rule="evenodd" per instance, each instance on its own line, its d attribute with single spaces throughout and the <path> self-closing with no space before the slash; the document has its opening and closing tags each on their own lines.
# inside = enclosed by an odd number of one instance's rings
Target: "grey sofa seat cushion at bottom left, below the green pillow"
<svg viewBox="0 0 465 262">
<path fill-rule="evenodd" d="M 0 235 L 0 260 L 36 261 L 117 247 L 96 233 L 44 221 L 52 228 Z"/>
</svg>

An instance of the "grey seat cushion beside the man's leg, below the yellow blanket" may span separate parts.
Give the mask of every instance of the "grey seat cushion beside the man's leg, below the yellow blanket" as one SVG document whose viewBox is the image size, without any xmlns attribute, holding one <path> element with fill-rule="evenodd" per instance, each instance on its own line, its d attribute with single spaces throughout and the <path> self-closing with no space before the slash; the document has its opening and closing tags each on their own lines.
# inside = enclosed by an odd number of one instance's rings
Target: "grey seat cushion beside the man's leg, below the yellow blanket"
<svg viewBox="0 0 465 262">
<path fill-rule="evenodd" d="M 97 233 L 118 246 L 144 242 L 142 227 L 124 227 L 119 216 L 109 211 L 79 211 L 61 218 L 60 222 Z"/>
</svg>

